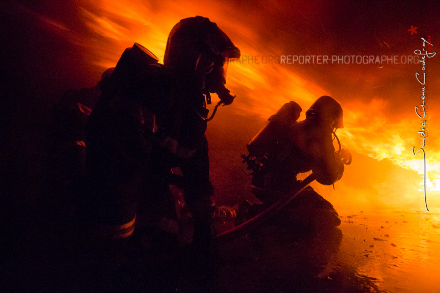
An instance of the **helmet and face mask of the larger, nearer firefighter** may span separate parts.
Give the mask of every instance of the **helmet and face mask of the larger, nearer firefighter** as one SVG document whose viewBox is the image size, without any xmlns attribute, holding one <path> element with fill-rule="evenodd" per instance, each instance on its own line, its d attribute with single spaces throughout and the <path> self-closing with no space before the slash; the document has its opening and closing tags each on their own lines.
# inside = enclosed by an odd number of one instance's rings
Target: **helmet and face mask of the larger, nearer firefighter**
<svg viewBox="0 0 440 293">
<path fill-rule="evenodd" d="M 196 16 L 179 21 L 168 36 L 163 63 L 177 80 L 202 80 L 201 87 L 221 92 L 227 63 L 240 58 L 240 50 L 209 19 Z"/>
</svg>

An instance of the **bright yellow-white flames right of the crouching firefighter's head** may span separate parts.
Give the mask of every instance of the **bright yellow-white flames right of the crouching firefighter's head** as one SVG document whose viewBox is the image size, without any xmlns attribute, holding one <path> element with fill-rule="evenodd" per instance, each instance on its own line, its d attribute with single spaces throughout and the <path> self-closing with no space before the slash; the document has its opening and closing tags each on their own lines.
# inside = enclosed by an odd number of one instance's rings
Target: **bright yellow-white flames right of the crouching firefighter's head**
<svg viewBox="0 0 440 293">
<path fill-rule="evenodd" d="M 427 192 L 440 191 L 440 141 L 431 137 L 426 139 L 426 146 L 423 147 L 426 159 L 423 160 L 422 151 L 417 153 L 423 144 L 423 138 L 418 134 L 421 131 L 421 121 L 404 118 L 392 122 L 381 110 L 386 108 L 385 104 L 383 100 L 373 99 L 368 105 L 347 105 L 344 117 L 346 128 L 340 130 L 341 140 L 348 149 L 379 161 L 388 159 L 393 164 L 414 170 L 421 176 L 425 172 L 426 164 Z M 436 116 L 436 113 L 432 113 L 427 123 L 434 121 Z M 435 126 L 428 127 L 429 132 L 435 132 Z M 413 154 L 413 147 L 417 155 Z"/>
</svg>

